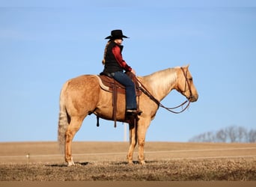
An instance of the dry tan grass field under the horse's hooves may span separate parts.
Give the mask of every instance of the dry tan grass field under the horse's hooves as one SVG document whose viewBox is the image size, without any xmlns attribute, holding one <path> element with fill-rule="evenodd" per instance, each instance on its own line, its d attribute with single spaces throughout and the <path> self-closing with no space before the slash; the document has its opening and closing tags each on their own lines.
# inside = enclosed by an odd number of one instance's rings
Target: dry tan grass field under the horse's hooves
<svg viewBox="0 0 256 187">
<path fill-rule="evenodd" d="M 256 144 L 147 142 L 146 165 L 127 142 L 73 142 L 66 167 L 57 142 L 0 143 L 0 181 L 256 181 Z"/>
</svg>

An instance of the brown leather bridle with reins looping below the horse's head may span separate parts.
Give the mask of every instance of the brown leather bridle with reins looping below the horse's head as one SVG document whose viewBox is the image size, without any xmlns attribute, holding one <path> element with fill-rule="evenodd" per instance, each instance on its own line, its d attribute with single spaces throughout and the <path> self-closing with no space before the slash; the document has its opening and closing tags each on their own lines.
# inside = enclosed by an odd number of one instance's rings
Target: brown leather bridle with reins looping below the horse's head
<svg viewBox="0 0 256 187">
<path fill-rule="evenodd" d="M 159 107 L 162 107 L 162 108 L 165 108 L 166 110 L 168 111 L 171 111 L 172 113 L 174 114 L 180 114 L 181 112 L 185 111 L 186 108 L 189 108 L 189 104 L 190 104 L 190 99 L 192 99 L 193 95 L 192 95 L 192 91 L 191 91 L 191 85 L 189 84 L 189 79 L 187 77 L 187 74 L 188 72 L 184 70 L 183 67 L 180 67 L 180 69 L 182 70 L 183 72 L 183 76 L 185 77 L 185 89 L 184 91 L 181 91 L 181 93 L 185 93 L 186 92 L 186 85 L 188 85 L 188 88 L 189 88 L 189 97 L 186 99 L 186 101 L 184 101 L 183 103 L 181 103 L 180 105 L 177 105 L 175 107 L 172 107 L 172 108 L 169 108 L 169 107 L 165 107 L 164 105 L 162 105 L 161 102 L 159 102 L 159 100 L 157 100 L 149 91 L 147 91 L 147 88 L 144 87 L 144 85 L 137 79 L 135 78 L 139 83 L 140 83 L 140 86 L 139 86 L 139 90 L 141 90 L 146 96 L 148 96 L 151 100 L 153 100 L 153 102 L 156 102 L 156 105 L 159 105 Z M 185 105 L 187 103 L 187 105 L 185 106 L 185 108 L 183 108 L 181 111 L 173 111 L 174 109 L 176 108 L 180 108 L 182 107 L 183 105 Z"/>
</svg>

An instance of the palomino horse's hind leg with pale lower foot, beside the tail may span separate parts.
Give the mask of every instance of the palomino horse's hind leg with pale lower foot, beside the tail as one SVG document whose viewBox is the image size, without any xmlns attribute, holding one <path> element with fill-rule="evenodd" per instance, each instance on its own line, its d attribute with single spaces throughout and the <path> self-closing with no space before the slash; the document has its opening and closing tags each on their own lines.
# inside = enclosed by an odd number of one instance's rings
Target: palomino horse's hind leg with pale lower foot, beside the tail
<svg viewBox="0 0 256 187">
<path fill-rule="evenodd" d="M 72 149 L 71 149 L 71 143 L 76 135 L 76 132 L 80 129 L 82 125 L 81 117 L 72 117 L 70 121 L 70 125 L 67 127 L 67 131 L 65 134 L 65 161 L 67 162 L 67 165 L 75 165 L 73 162 L 72 157 Z"/>
</svg>

